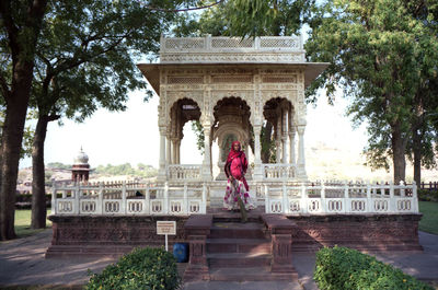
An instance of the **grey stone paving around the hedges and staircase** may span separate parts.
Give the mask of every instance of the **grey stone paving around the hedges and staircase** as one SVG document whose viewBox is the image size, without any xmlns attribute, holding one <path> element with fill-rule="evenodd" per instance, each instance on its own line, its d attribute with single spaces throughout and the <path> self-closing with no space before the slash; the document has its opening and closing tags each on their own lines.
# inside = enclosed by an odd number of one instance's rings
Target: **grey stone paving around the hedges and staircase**
<svg viewBox="0 0 438 290">
<path fill-rule="evenodd" d="M 0 288 L 13 286 L 44 286 L 44 289 L 80 289 L 89 280 L 88 269 L 101 271 L 114 258 L 50 258 L 44 254 L 51 240 L 51 230 L 35 235 L 0 243 Z M 425 281 L 438 281 L 438 235 L 419 233 L 424 252 L 379 253 L 377 257 Z M 299 281 L 260 282 L 189 282 L 184 289 L 318 289 L 313 282 L 314 253 L 295 253 L 293 266 Z M 178 265 L 184 271 L 184 264 Z M 60 288 L 59 288 L 60 287 Z"/>
</svg>

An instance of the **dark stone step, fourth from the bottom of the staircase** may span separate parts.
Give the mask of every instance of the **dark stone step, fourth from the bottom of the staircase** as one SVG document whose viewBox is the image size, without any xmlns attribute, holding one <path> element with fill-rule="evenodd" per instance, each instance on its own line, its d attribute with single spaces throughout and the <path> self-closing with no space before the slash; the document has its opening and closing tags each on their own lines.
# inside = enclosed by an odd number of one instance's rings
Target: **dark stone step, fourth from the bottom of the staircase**
<svg viewBox="0 0 438 290">
<path fill-rule="evenodd" d="M 257 222 L 215 222 L 209 239 L 265 239 L 264 227 Z"/>
</svg>

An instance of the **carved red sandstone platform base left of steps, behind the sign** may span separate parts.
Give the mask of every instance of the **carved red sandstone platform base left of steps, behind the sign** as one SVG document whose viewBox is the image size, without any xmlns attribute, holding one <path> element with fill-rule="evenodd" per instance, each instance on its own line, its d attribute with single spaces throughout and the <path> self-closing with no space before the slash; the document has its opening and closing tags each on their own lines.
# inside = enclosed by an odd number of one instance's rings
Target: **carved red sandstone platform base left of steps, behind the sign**
<svg viewBox="0 0 438 290">
<path fill-rule="evenodd" d="M 157 221 L 176 221 L 176 235 L 169 235 L 169 248 L 186 241 L 184 223 L 188 217 L 104 217 L 50 216 L 51 245 L 46 257 L 112 256 L 129 253 L 135 247 L 164 246 L 164 235 L 157 234 Z"/>
</svg>

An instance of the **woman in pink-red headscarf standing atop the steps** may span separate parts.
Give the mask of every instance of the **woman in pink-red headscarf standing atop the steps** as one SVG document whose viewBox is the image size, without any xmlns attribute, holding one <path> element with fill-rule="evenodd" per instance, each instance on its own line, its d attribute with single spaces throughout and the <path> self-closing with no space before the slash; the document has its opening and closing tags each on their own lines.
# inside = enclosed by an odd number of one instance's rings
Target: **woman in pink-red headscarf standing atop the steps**
<svg viewBox="0 0 438 290">
<path fill-rule="evenodd" d="M 224 166 L 228 182 L 223 207 L 228 210 L 239 209 L 239 196 L 246 210 L 254 209 L 254 205 L 251 202 L 250 187 L 245 179 L 246 170 L 247 160 L 245 153 L 242 151 L 240 142 L 234 141 L 231 144 Z"/>
</svg>

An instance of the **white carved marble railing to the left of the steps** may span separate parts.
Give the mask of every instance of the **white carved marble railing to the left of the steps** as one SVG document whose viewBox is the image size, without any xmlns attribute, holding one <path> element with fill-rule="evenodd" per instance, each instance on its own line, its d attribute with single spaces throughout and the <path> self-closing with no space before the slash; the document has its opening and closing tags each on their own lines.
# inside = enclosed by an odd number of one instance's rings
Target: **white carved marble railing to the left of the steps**
<svg viewBox="0 0 438 290">
<path fill-rule="evenodd" d="M 58 196 L 61 196 L 58 198 Z M 55 184 L 53 214 L 206 213 L 207 188 L 140 183 Z"/>
</svg>

